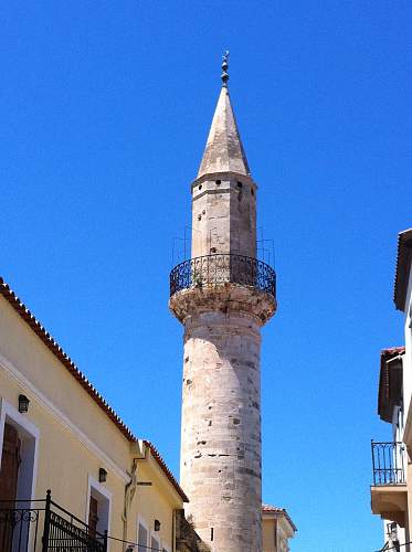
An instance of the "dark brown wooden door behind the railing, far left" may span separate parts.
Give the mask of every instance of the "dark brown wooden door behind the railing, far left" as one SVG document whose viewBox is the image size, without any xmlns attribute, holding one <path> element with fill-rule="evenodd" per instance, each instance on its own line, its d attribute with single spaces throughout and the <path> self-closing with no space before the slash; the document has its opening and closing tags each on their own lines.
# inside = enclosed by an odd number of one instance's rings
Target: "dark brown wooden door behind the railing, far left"
<svg viewBox="0 0 412 552">
<path fill-rule="evenodd" d="M 1 454 L 1 469 L 0 469 L 0 500 L 15 500 L 18 492 L 18 476 L 19 466 L 21 464 L 20 457 L 21 440 L 19 433 L 10 424 L 4 424 L 3 446 Z M 9 552 L 13 541 L 13 527 L 11 512 L 14 505 L 12 502 L 2 502 L 0 508 L 0 550 Z"/>
</svg>

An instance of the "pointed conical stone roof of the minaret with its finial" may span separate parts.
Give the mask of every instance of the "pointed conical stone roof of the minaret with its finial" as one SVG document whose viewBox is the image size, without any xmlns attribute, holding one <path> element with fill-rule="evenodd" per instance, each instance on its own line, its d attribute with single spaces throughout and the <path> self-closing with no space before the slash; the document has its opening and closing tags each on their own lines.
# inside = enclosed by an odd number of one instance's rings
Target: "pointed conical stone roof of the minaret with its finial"
<svg viewBox="0 0 412 552">
<path fill-rule="evenodd" d="M 210 127 L 198 178 L 213 172 L 251 173 L 247 159 L 239 135 L 236 119 L 233 114 L 228 89 L 228 55 L 223 56 L 222 89 Z"/>
</svg>

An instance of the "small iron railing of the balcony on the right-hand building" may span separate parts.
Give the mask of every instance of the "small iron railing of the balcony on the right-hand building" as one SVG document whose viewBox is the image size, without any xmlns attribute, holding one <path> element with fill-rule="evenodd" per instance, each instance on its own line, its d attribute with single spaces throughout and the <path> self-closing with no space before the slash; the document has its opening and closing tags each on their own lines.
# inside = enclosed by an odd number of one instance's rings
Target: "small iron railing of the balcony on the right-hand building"
<svg viewBox="0 0 412 552">
<path fill-rule="evenodd" d="M 405 482 L 403 443 L 371 443 L 373 485 Z"/>
</svg>

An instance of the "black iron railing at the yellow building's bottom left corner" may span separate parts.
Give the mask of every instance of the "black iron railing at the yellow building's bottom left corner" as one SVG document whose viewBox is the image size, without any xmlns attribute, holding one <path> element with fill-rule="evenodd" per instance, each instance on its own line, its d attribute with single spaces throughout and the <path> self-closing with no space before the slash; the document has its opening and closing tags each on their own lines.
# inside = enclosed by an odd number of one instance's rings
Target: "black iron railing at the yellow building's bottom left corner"
<svg viewBox="0 0 412 552">
<path fill-rule="evenodd" d="M 0 501 L 1 552 L 106 552 L 107 534 L 88 526 L 53 502 L 43 500 Z"/>
</svg>

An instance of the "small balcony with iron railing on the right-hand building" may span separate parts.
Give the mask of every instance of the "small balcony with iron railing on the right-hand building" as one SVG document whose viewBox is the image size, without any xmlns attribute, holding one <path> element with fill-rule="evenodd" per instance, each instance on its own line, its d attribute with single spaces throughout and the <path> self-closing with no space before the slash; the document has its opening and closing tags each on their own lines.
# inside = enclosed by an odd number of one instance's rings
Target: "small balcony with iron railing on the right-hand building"
<svg viewBox="0 0 412 552">
<path fill-rule="evenodd" d="M 408 507 L 405 448 L 403 443 L 371 443 L 372 512 L 404 527 Z"/>
</svg>

